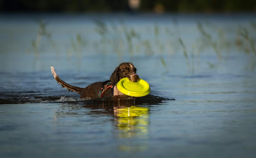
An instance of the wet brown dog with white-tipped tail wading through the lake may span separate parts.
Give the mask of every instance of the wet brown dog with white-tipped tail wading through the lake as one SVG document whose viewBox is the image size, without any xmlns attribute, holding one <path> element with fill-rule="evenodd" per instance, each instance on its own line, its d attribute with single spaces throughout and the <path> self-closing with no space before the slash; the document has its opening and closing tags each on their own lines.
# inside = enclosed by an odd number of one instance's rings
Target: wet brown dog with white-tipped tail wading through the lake
<svg viewBox="0 0 256 158">
<path fill-rule="evenodd" d="M 90 85 L 88 85 L 85 88 L 80 88 L 80 87 L 75 87 L 75 86 L 71 86 L 69 84 L 67 84 L 66 82 L 62 81 L 57 74 L 54 71 L 54 67 L 51 67 L 51 71 L 52 74 L 55 78 L 55 80 L 61 84 L 61 86 L 64 88 L 67 88 L 68 91 L 71 92 L 78 92 L 80 94 L 80 98 L 84 98 L 87 100 L 90 99 L 95 99 L 99 97 L 99 92 L 102 89 L 102 84 L 104 82 L 95 82 L 92 83 Z M 131 82 L 137 82 L 140 78 L 139 76 L 136 74 L 136 68 L 133 66 L 132 63 L 129 62 L 124 62 L 121 63 L 116 69 L 115 71 L 112 73 L 112 75 L 110 76 L 110 81 L 112 83 L 112 92 L 111 89 L 108 88 L 106 89 L 106 91 L 102 94 L 102 97 L 111 97 L 112 95 L 120 95 L 123 94 L 121 93 L 117 88 L 116 88 L 116 84 L 117 82 L 119 82 L 122 78 L 127 77 Z"/>
</svg>

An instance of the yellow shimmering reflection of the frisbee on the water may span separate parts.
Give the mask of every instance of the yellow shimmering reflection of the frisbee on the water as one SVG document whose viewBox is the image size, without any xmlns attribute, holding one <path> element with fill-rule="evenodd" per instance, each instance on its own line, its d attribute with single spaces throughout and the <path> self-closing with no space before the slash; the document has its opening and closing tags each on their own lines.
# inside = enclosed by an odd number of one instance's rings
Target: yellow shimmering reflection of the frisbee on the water
<svg viewBox="0 0 256 158">
<path fill-rule="evenodd" d="M 144 151 L 148 148 L 148 126 L 149 126 L 149 108 L 146 107 L 124 107 L 114 108 L 116 116 L 115 125 L 119 129 L 119 138 L 143 138 L 142 142 L 134 143 L 127 141 L 126 144 L 119 145 L 122 151 Z"/>
</svg>

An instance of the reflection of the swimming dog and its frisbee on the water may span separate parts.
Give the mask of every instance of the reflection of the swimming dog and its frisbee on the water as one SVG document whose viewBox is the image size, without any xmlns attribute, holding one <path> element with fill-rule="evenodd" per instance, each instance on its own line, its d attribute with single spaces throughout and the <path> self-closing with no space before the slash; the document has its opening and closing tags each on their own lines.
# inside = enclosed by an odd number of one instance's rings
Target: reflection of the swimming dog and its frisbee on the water
<svg viewBox="0 0 256 158">
<path fill-rule="evenodd" d="M 108 113 L 114 117 L 114 119 L 111 119 L 114 120 L 115 125 L 113 136 L 117 139 L 127 139 L 125 144 L 118 145 L 118 149 L 130 152 L 144 151 L 148 148 L 149 143 L 147 141 L 149 137 L 149 108 L 146 106 L 138 107 L 127 105 L 127 103 L 124 104 L 126 105 L 122 106 L 120 103 L 101 105 L 93 102 L 84 103 L 82 106 L 76 103 L 63 104 L 61 109 L 55 112 L 56 115 L 53 119 L 56 121 L 58 118 L 70 117 L 70 114 L 77 115 L 81 108 L 87 109 L 87 114 L 99 114 L 101 116 L 102 113 L 104 113 L 104 115 Z M 71 113 L 71 111 L 73 111 L 73 113 Z"/>
</svg>

